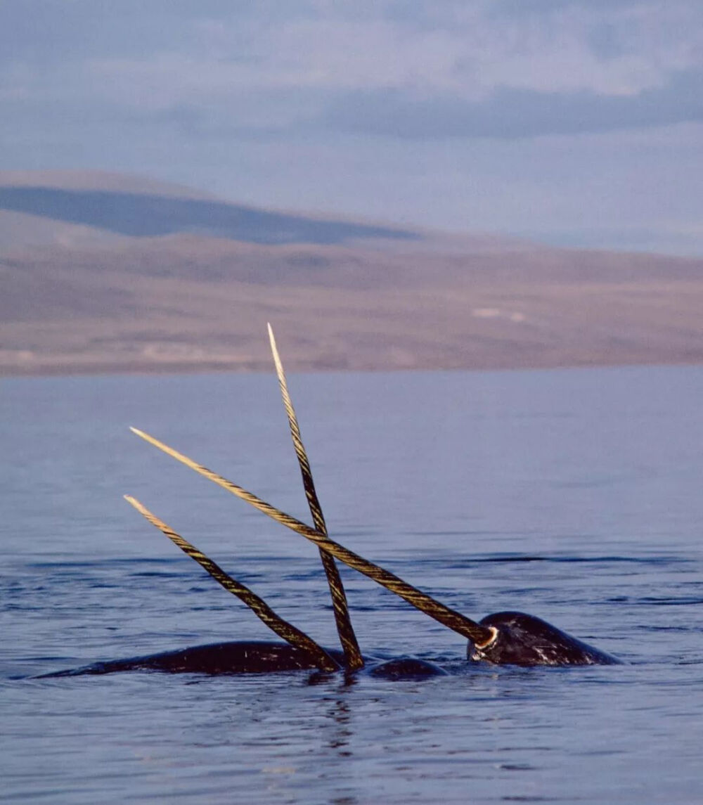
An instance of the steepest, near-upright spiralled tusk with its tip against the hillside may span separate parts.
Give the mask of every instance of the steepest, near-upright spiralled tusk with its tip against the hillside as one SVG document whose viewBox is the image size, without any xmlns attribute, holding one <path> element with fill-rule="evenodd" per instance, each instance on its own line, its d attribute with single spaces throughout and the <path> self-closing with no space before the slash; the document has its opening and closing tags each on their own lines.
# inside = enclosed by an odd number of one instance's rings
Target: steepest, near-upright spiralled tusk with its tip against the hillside
<svg viewBox="0 0 703 805">
<path fill-rule="evenodd" d="M 327 536 L 328 534 L 327 526 L 325 524 L 325 515 L 322 514 L 322 506 L 320 506 L 320 501 L 317 497 L 315 481 L 312 480 L 312 469 L 310 469 L 308 453 L 305 451 L 303 439 L 302 436 L 300 436 L 300 426 L 298 424 L 296 410 L 293 407 L 291 395 L 288 393 L 286 374 L 283 371 L 283 363 L 281 362 L 279 351 L 276 347 L 273 328 L 271 327 L 271 324 L 267 324 L 267 327 L 269 341 L 271 342 L 271 353 L 273 354 L 276 374 L 279 378 L 281 396 L 283 397 L 283 407 L 286 409 L 288 425 L 291 429 L 293 447 L 296 449 L 296 456 L 298 456 L 300 474 L 303 477 L 305 497 L 308 498 L 308 506 L 310 507 L 310 514 L 312 514 L 312 522 L 314 523 L 316 530 L 320 531 L 320 534 Z M 341 576 L 339 575 L 339 568 L 337 568 L 337 564 L 335 564 L 333 556 L 323 551 L 321 547 L 320 559 L 322 559 L 322 566 L 325 568 L 325 576 L 327 576 L 329 592 L 332 596 L 334 619 L 337 623 L 337 634 L 339 635 L 341 647 L 344 650 L 346 663 L 350 671 L 357 671 L 359 668 L 364 667 L 364 659 L 362 657 L 362 652 L 359 649 L 356 635 L 354 634 L 354 626 L 352 626 L 351 617 L 349 617 L 349 605 L 346 601 L 344 584 L 342 584 Z"/>
</svg>

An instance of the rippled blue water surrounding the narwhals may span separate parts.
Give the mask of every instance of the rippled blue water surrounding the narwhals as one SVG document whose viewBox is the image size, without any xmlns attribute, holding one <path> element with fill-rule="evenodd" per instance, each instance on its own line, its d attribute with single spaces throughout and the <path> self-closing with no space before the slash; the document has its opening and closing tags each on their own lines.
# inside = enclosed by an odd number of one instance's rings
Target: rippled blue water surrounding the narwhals
<svg viewBox="0 0 703 805">
<path fill-rule="evenodd" d="M 457 634 L 344 572 L 363 650 L 456 673 L 28 679 L 268 638 L 123 493 L 336 643 L 316 548 L 127 430 L 307 520 L 273 376 L 6 380 L 0 802 L 703 801 L 703 369 L 289 379 L 336 539 L 627 664 L 464 666 Z"/>
</svg>

